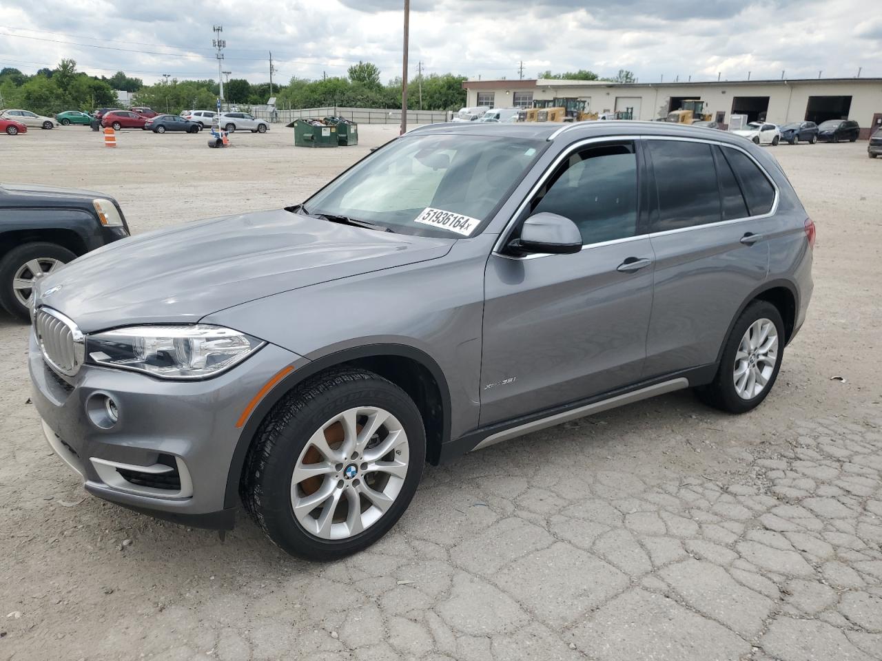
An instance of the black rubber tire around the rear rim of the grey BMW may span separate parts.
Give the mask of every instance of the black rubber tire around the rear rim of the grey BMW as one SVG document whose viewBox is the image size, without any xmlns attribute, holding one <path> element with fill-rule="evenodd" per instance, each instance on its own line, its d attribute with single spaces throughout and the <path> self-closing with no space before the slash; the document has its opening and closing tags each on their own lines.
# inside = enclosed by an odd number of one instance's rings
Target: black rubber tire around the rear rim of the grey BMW
<svg viewBox="0 0 882 661">
<path fill-rule="evenodd" d="M 735 390 L 735 382 L 732 379 L 732 368 L 735 365 L 735 354 L 741 338 L 750 328 L 751 323 L 758 319 L 766 318 L 774 323 L 775 330 L 778 332 L 778 360 L 775 362 L 774 370 L 771 377 L 766 383 L 766 388 L 762 390 L 756 397 L 751 399 L 743 399 L 738 396 Z M 768 301 L 752 301 L 744 312 L 738 316 L 738 319 L 729 338 L 726 339 L 726 345 L 723 348 L 720 366 L 714 376 L 714 381 L 705 386 L 699 386 L 695 389 L 696 395 L 708 406 L 713 406 L 721 411 L 729 413 L 746 413 L 759 406 L 768 396 L 774 387 L 774 382 L 778 378 L 778 372 L 781 371 L 781 361 L 784 360 L 784 322 L 781 320 L 781 313 Z"/>
</svg>

